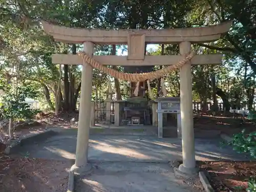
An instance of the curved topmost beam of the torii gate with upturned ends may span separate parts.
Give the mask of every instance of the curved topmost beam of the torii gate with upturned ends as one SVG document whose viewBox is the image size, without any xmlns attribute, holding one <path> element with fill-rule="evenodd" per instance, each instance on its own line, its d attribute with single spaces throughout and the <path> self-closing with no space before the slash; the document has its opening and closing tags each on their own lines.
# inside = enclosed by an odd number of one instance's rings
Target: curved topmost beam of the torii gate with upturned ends
<svg viewBox="0 0 256 192">
<path fill-rule="evenodd" d="M 82 43 L 84 41 L 96 44 L 127 44 L 129 34 L 145 34 L 147 44 L 172 44 L 182 41 L 191 43 L 209 42 L 217 40 L 220 35 L 229 31 L 232 21 L 219 25 L 195 28 L 139 30 L 139 29 L 84 29 L 70 28 L 41 21 L 45 32 L 55 40 L 69 43 Z"/>
</svg>

